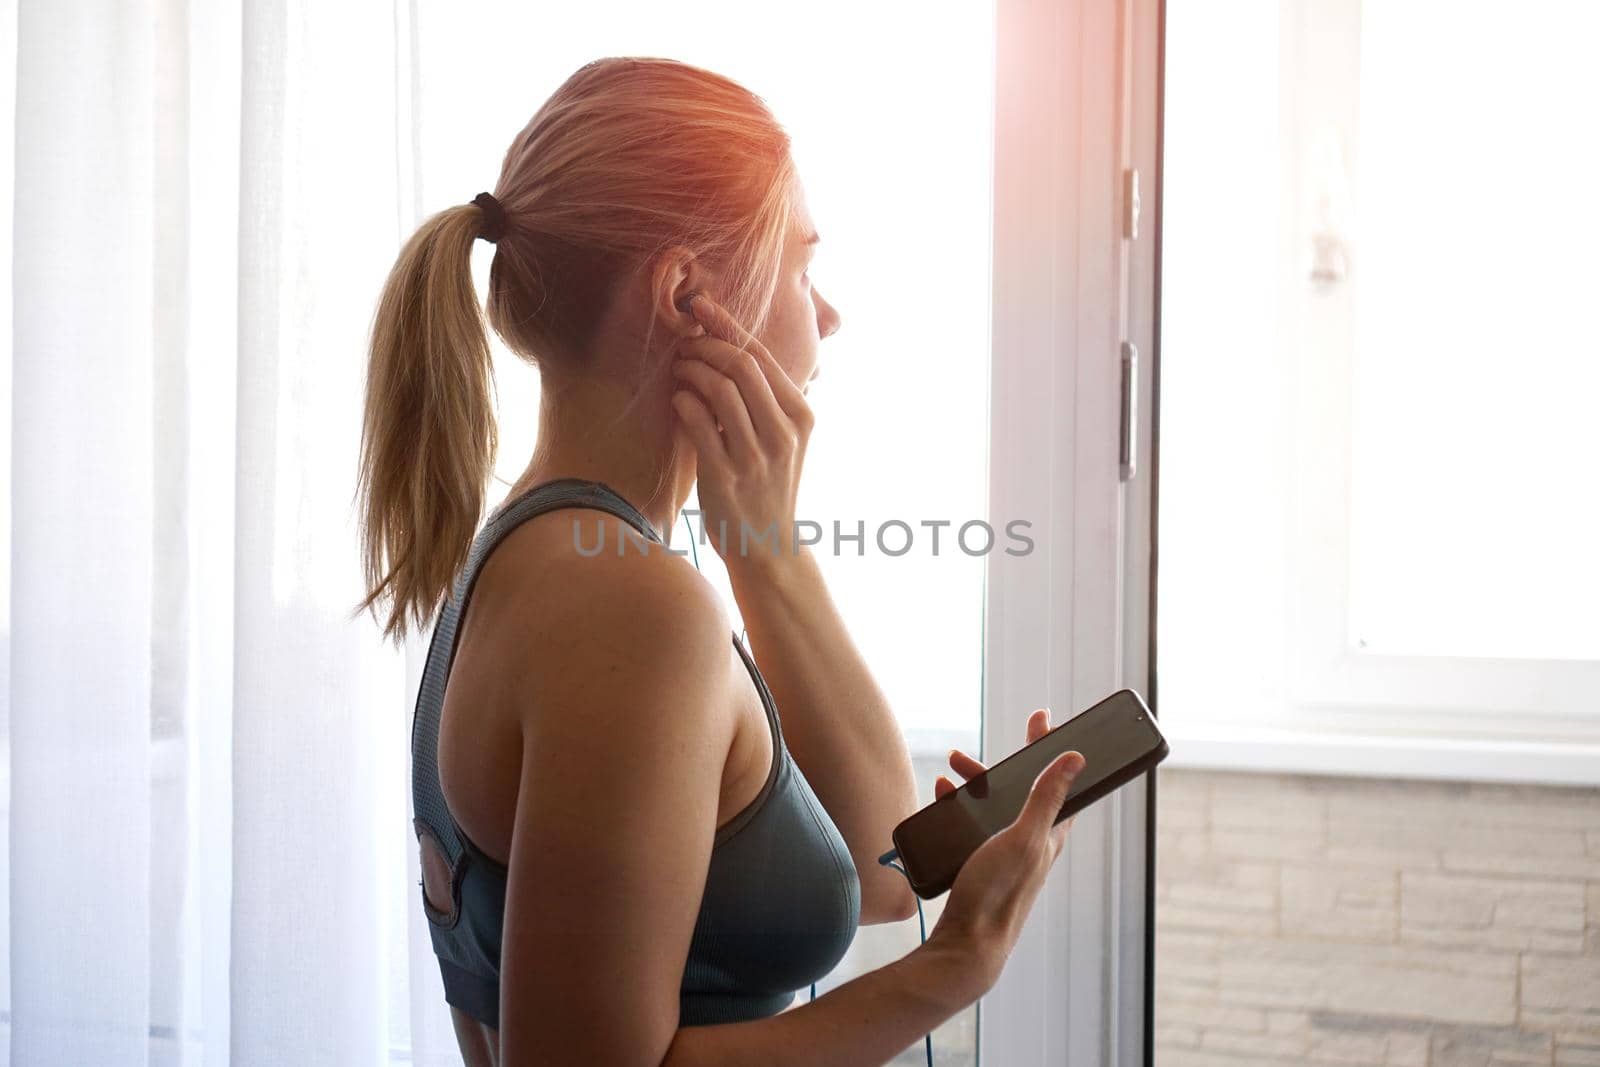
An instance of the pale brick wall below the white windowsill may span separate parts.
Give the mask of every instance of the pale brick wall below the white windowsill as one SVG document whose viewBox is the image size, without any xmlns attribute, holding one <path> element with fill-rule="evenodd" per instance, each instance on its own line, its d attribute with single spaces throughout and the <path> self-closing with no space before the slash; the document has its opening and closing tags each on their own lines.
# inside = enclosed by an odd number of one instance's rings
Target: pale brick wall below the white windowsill
<svg viewBox="0 0 1600 1067">
<path fill-rule="evenodd" d="M 1600 789 L 1160 776 L 1158 1067 L 1600 1067 Z"/>
</svg>

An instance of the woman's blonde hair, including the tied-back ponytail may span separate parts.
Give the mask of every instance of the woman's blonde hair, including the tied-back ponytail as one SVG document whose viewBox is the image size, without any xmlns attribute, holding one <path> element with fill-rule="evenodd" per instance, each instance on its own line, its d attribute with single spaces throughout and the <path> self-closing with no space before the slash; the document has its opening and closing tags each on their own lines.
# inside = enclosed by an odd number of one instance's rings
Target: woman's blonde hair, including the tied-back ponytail
<svg viewBox="0 0 1600 1067">
<path fill-rule="evenodd" d="M 720 272 L 717 301 L 758 334 L 794 222 L 792 181 L 787 133 L 736 82 L 674 59 L 589 62 L 506 152 L 488 325 L 523 360 L 582 373 L 624 275 L 686 245 Z M 470 259 L 482 227 L 474 203 L 424 221 L 373 325 L 357 486 L 368 593 L 352 617 L 376 617 L 387 600 L 382 632 L 395 643 L 451 595 L 494 470 L 494 371 Z M 653 333 L 654 317 L 635 398 Z"/>
</svg>

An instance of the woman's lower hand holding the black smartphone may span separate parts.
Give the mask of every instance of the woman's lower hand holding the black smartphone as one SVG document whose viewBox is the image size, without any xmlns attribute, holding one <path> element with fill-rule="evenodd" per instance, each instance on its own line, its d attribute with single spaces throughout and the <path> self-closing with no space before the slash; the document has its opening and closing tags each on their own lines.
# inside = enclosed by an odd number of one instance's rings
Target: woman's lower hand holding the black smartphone
<svg viewBox="0 0 1600 1067">
<path fill-rule="evenodd" d="M 1029 744 L 1046 733 L 1050 710 L 1040 709 L 1027 720 Z M 950 753 L 950 766 L 963 777 L 986 769 L 960 750 Z M 1067 830 L 1077 816 L 1061 822 L 1056 816 L 1082 769 L 1083 753 L 1064 752 L 1038 773 L 1011 825 L 979 845 L 962 865 L 939 921 L 928 934 L 930 945 L 946 945 L 966 961 L 984 992 L 1000 979 L 1034 899 L 1067 843 Z M 933 787 L 939 797 L 954 789 L 942 774 Z"/>
</svg>

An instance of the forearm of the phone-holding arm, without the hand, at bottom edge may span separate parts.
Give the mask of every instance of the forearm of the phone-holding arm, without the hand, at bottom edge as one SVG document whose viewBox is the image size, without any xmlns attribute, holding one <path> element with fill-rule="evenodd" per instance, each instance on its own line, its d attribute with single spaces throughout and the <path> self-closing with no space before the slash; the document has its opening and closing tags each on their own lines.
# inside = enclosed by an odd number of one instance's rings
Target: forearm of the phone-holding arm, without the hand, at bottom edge
<svg viewBox="0 0 1600 1067">
<path fill-rule="evenodd" d="M 768 1019 L 683 1027 L 661 1067 L 882 1067 L 982 992 L 968 960 L 925 944 Z"/>
</svg>

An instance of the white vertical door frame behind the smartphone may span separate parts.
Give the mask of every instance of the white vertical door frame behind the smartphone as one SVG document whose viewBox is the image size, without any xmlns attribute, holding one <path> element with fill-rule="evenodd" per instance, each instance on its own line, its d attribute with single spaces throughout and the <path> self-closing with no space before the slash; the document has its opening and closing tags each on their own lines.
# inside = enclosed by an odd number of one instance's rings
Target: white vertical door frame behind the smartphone
<svg viewBox="0 0 1600 1067">
<path fill-rule="evenodd" d="M 998 0 L 984 760 L 1131 686 L 1154 702 L 1162 0 Z M 1141 176 L 1126 234 L 1125 171 Z M 1123 342 L 1139 357 L 1122 475 Z M 990 753 L 995 753 L 994 757 Z M 1150 1064 L 1155 776 L 1085 809 L 1000 981 L 979 1062 Z"/>
</svg>

